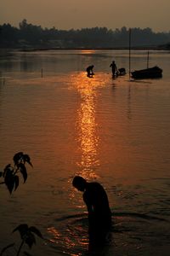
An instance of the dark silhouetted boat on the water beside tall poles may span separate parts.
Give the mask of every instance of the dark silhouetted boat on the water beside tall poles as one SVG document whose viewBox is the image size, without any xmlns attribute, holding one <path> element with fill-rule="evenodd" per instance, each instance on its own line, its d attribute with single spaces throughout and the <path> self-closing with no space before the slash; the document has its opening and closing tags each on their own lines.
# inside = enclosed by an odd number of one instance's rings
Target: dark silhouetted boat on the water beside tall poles
<svg viewBox="0 0 170 256">
<path fill-rule="evenodd" d="M 131 72 L 133 79 L 156 79 L 161 78 L 162 69 L 160 67 L 149 67 Z"/>
</svg>

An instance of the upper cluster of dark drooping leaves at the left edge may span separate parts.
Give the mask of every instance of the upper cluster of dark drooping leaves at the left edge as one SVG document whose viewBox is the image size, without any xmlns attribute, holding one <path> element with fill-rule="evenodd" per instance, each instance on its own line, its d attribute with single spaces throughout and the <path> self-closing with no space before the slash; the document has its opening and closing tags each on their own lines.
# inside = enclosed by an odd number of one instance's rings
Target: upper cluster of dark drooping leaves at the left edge
<svg viewBox="0 0 170 256">
<path fill-rule="evenodd" d="M 20 177 L 18 174 L 22 175 L 24 183 L 26 183 L 26 163 L 33 167 L 31 164 L 30 156 L 28 154 L 23 154 L 22 152 L 14 154 L 13 160 L 14 166 L 8 164 L 5 166 L 3 172 L 0 172 L 0 177 L 3 177 L 3 182 L 0 184 L 5 184 L 10 194 L 12 194 L 12 192 L 15 191 L 19 186 Z"/>
</svg>

